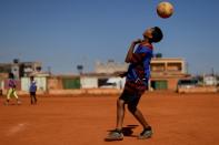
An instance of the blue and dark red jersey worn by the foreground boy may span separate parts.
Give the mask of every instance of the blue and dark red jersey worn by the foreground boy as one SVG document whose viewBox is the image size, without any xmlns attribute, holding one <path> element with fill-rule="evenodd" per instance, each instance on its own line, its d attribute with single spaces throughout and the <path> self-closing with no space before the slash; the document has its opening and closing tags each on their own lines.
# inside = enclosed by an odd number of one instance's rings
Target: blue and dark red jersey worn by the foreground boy
<svg viewBox="0 0 219 145">
<path fill-rule="evenodd" d="M 153 56 L 152 45 L 139 44 L 136 49 L 127 72 L 126 90 L 143 92 L 150 79 L 150 61 Z"/>
</svg>

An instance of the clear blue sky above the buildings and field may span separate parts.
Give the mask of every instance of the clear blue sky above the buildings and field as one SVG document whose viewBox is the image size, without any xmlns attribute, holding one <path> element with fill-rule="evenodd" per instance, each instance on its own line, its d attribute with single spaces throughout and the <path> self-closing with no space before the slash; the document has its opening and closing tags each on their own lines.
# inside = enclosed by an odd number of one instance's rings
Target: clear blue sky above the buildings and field
<svg viewBox="0 0 219 145">
<path fill-rule="evenodd" d="M 182 58 L 191 74 L 219 73 L 219 0 L 0 0 L 0 63 L 42 62 L 53 74 L 93 72 L 96 62 L 125 62 L 130 43 L 150 27 L 163 40 L 155 53 Z"/>
</svg>

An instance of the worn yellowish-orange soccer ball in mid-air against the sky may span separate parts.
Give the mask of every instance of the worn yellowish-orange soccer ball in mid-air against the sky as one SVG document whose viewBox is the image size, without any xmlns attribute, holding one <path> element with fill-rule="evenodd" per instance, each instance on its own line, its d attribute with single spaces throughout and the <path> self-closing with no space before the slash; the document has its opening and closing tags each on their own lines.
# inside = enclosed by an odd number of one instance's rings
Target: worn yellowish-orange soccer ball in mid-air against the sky
<svg viewBox="0 0 219 145">
<path fill-rule="evenodd" d="M 157 6 L 157 13 L 160 18 L 169 18 L 173 13 L 173 6 L 170 2 L 163 1 Z"/>
</svg>

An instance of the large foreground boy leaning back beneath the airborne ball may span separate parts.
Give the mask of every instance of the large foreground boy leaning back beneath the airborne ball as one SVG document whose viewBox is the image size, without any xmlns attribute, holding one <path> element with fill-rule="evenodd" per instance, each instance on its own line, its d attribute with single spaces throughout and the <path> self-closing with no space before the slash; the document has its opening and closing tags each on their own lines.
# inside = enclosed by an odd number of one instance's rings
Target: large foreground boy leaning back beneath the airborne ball
<svg viewBox="0 0 219 145">
<path fill-rule="evenodd" d="M 136 40 L 131 43 L 126 56 L 126 62 L 130 63 L 128 72 L 120 74 L 126 76 L 126 85 L 122 94 L 117 100 L 117 126 L 111 132 L 106 141 L 123 139 L 122 123 L 125 117 L 125 104 L 128 104 L 128 110 L 142 125 L 143 131 L 138 136 L 139 139 L 149 138 L 152 135 L 151 126 L 146 122 L 142 113 L 137 105 L 143 92 L 148 89 L 150 77 L 150 61 L 153 55 L 152 43 L 157 43 L 162 39 L 162 31 L 158 28 L 150 28 L 143 32 L 143 40 Z M 138 48 L 135 51 L 135 46 Z"/>
</svg>

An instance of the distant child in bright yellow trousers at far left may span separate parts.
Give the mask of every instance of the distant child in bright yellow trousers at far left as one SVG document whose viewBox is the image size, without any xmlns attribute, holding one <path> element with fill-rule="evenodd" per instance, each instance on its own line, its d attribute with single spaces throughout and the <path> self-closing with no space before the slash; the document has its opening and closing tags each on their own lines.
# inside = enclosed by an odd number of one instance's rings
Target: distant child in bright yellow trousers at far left
<svg viewBox="0 0 219 145">
<path fill-rule="evenodd" d="M 17 104 L 20 104 L 20 101 L 18 99 L 17 92 L 16 92 L 16 81 L 14 81 L 14 75 L 13 73 L 9 73 L 9 82 L 8 82 L 8 93 L 7 93 L 7 102 L 6 105 L 9 105 L 9 101 L 11 95 L 13 95 L 17 99 Z"/>
</svg>

